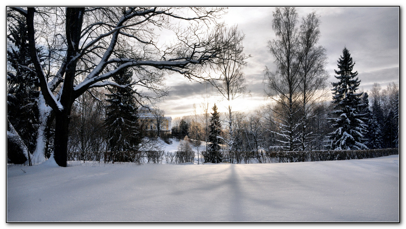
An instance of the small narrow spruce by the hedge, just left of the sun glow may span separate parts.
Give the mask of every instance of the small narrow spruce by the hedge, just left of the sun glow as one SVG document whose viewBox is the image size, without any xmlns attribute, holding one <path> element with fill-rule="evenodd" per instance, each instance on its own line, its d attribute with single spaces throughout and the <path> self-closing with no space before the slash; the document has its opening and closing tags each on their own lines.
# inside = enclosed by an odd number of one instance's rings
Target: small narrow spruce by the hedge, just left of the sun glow
<svg viewBox="0 0 406 229">
<path fill-rule="evenodd" d="M 209 158 L 206 162 L 220 163 L 223 161 L 222 154 L 220 152 L 220 139 L 218 138 L 221 133 L 220 113 L 217 112 L 217 106 L 214 104 L 213 113 L 210 118 L 210 132 L 209 132 Z"/>
</svg>

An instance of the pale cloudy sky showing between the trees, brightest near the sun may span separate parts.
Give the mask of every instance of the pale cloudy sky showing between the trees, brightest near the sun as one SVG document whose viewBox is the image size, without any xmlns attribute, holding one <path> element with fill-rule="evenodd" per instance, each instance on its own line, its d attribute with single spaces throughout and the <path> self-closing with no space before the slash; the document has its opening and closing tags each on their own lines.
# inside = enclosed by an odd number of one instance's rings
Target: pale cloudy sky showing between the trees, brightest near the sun
<svg viewBox="0 0 406 229">
<path fill-rule="evenodd" d="M 274 58 L 268 52 L 267 42 L 275 39 L 272 30 L 275 7 L 229 7 L 222 20 L 228 25 L 238 25 L 245 34 L 245 54 L 252 57 L 244 68 L 250 96 L 234 101 L 233 111 L 249 112 L 267 103 L 264 98 L 265 66 L 274 68 Z M 299 18 L 312 11 L 320 15 L 321 38 L 319 44 L 327 49 L 327 72 L 330 82 L 335 82 L 334 69 L 344 47 L 355 61 L 354 71 L 361 80 L 360 90 L 368 91 L 374 82 L 383 88 L 388 83 L 399 83 L 399 8 L 398 7 L 296 7 Z M 210 107 L 216 103 L 225 111 L 226 103 L 210 86 L 190 82 L 182 76 L 171 75 L 166 85 L 170 96 L 157 106 L 166 116 L 180 117 L 196 112 L 206 101 Z"/>
</svg>

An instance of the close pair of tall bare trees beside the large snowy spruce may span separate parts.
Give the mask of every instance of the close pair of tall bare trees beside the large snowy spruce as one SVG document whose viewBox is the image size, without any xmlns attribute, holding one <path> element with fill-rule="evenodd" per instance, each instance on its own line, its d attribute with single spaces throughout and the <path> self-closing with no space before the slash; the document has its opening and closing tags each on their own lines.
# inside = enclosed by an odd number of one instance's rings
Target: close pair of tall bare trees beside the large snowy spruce
<svg viewBox="0 0 406 229">
<path fill-rule="evenodd" d="M 273 29 L 278 40 L 270 41 L 268 47 L 277 70 L 265 69 L 266 95 L 276 102 L 270 106 L 279 128 L 275 133 L 288 150 L 305 150 L 315 139 L 309 126 L 317 115 L 316 106 L 326 100 L 328 92 L 326 50 L 318 46 L 319 16 L 308 14 L 299 28 L 297 22 L 294 8 L 276 8 Z"/>
</svg>

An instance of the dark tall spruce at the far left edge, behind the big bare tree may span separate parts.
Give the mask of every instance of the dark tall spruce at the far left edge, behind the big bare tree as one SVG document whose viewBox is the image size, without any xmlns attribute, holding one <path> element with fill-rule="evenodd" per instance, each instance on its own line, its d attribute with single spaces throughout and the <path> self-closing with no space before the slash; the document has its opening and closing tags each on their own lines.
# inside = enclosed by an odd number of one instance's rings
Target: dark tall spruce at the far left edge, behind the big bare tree
<svg viewBox="0 0 406 229">
<path fill-rule="evenodd" d="M 9 17 L 13 17 L 15 23 L 9 26 L 7 35 L 7 119 L 21 138 L 19 141 L 32 154 L 36 147 L 39 124 L 37 106 L 39 81 L 35 73 L 24 68 L 32 65 L 29 58 L 25 18 L 18 15 L 9 15 Z M 8 150 L 8 157 L 13 163 L 23 163 L 28 159 L 24 159 L 21 155 L 9 155 L 9 153 L 12 151 Z M 15 150 L 14 153 L 22 152 Z"/>
</svg>

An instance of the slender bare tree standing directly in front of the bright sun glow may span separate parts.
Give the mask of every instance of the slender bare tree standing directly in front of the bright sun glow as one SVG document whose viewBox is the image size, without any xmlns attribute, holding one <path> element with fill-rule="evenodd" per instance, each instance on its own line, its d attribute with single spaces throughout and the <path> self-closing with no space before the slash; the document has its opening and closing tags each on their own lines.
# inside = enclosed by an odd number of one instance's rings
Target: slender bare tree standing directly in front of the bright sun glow
<svg viewBox="0 0 406 229">
<path fill-rule="evenodd" d="M 228 139 L 224 139 L 232 151 L 234 147 L 234 129 L 231 102 L 240 96 L 249 94 L 246 92 L 246 83 L 243 72 L 243 66 L 247 64 L 246 56 L 243 53 L 244 35 L 238 31 L 238 26 L 233 26 L 230 29 L 221 28 L 219 43 L 231 44 L 228 47 L 228 52 L 221 55 L 216 63 L 215 70 L 219 73 L 220 78 L 213 80 L 212 85 L 228 102 Z"/>
</svg>

